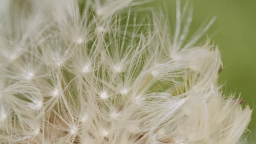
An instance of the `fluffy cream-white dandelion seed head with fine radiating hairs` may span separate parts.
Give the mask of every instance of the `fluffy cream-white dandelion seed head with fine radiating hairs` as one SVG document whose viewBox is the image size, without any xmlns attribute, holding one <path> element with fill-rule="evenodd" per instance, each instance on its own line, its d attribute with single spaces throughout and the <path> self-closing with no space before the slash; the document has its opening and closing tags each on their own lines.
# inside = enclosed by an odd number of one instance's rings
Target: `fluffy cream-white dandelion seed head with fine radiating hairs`
<svg viewBox="0 0 256 144">
<path fill-rule="evenodd" d="M 252 111 L 196 44 L 214 20 L 188 39 L 188 5 L 171 32 L 144 2 L 1 0 L 0 143 L 237 143 Z"/>
</svg>

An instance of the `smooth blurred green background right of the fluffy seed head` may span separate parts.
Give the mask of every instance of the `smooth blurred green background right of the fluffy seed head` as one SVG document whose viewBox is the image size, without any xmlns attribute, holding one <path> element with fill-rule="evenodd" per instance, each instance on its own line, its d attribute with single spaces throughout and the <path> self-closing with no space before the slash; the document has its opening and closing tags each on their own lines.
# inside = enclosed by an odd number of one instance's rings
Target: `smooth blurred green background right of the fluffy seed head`
<svg viewBox="0 0 256 144">
<path fill-rule="evenodd" d="M 165 1 L 170 23 L 173 23 L 175 1 Z M 254 109 L 256 101 L 256 1 L 255 0 L 190 0 L 193 7 L 191 32 L 203 22 L 217 16 L 216 22 L 204 35 L 210 35 L 211 43 L 218 45 L 224 69 L 220 73 L 220 84 L 225 94 L 241 93 L 244 102 Z M 184 4 L 185 1 L 182 1 Z M 249 130 L 256 137 L 256 116 L 253 111 Z M 255 142 L 256 143 L 256 142 Z"/>
</svg>

